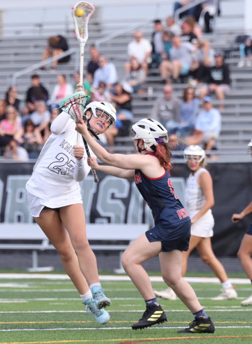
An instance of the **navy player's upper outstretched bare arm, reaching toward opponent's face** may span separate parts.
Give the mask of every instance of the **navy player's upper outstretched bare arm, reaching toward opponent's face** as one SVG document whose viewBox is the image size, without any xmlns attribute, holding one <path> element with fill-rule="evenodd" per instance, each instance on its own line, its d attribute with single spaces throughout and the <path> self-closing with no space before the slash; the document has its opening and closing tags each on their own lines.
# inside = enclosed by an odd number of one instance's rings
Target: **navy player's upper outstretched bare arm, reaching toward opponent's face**
<svg viewBox="0 0 252 344">
<path fill-rule="evenodd" d="M 101 161 L 108 165 L 126 170 L 142 169 L 150 163 L 146 155 L 139 154 L 110 154 L 92 138 L 85 123 L 76 124 L 76 130 L 84 137 L 89 147 Z"/>
</svg>

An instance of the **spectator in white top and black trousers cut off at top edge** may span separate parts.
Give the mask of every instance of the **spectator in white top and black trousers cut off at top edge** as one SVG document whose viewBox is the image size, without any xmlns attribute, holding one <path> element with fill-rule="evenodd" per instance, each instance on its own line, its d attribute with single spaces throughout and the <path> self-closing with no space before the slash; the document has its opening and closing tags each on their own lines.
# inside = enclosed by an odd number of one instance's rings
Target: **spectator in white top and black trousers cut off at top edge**
<svg viewBox="0 0 252 344">
<path fill-rule="evenodd" d="M 219 0 L 206 0 L 202 4 L 202 11 L 199 16 L 199 25 L 204 32 L 210 33 L 213 31 L 211 22 L 217 11 L 218 13 L 220 12 Z"/>
</svg>

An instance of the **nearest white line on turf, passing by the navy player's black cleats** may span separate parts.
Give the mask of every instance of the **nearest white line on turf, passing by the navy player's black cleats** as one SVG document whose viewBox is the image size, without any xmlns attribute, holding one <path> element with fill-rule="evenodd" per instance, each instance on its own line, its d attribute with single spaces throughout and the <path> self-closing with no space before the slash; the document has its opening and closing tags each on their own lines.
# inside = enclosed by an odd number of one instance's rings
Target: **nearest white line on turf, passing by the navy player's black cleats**
<svg viewBox="0 0 252 344">
<path fill-rule="evenodd" d="M 148 330 L 152 329 L 184 329 L 185 326 L 163 326 L 163 327 L 153 327 L 149 328 Z M 216 329 L 246 329 L 246 328 L 251 328 L 251 326 L 215 326 Z M 0 332 L 11 332 L 11 331 L 62 331 L 62 330 L 131 330 L 131 327 L 76 327 L 73 329 L 65 328 L 65 327 L 60 327 L 60 328 L 55 328 L 55 329 L 8 329 L 8 330 L 0 330 Z"/>
</svg>

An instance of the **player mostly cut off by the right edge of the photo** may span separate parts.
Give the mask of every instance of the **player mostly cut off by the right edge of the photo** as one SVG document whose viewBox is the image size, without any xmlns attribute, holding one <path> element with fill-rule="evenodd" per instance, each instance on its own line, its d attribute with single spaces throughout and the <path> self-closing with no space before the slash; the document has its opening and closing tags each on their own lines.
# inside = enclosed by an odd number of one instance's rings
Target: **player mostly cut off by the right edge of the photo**
<svg viewBox="0 0 252 344">
<path fill-rule="evenodd" d="M 248 153 L 252 155 L 252 140 L 248 144 Z M 244 216 L 249 215 L 252 213 L 252 202 L 240 214 L 233 214 L 232 221 L 239 222 L 243 219 Z M 241 261 L 241 265 L 243 270 L 246 272 L 247 276 L 251 280 L 252 283 L 252 224 L 246 230 L 244 237 L 242 239 L 239 251 L 237 253 L 238 258 Z M 243 306 L 252 305 L 252 295 L 241 302 Z"/>
</svg>

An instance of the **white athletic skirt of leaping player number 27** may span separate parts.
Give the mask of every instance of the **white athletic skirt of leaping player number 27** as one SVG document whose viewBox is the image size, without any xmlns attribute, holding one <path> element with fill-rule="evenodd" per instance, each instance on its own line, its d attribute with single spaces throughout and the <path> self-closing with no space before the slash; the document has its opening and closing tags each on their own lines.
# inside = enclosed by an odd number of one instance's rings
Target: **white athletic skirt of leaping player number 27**
<svg viewBox="0 0 252 344">
<path fill-rule="evenodd" d="M 71 204 L 83 204 L 81 195 L 75 196 L 73 198 L 60 198 L 60 197 L 54 197 L 51 198 L 51 200 L 43 200 L 42 198 L 39 198 L 37 196 L 34 196 L 30 192 L 27 192 L 27 198 L 28 198 L 28 204 L 31 211 L 31 214 L 33 217 L 39 217 L 41 210 L 44 208 L 44 206 L 48 208 L 61 208 L 66 205 Z"/>
</svg>

